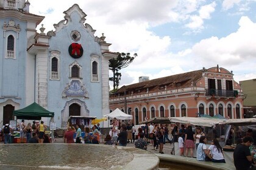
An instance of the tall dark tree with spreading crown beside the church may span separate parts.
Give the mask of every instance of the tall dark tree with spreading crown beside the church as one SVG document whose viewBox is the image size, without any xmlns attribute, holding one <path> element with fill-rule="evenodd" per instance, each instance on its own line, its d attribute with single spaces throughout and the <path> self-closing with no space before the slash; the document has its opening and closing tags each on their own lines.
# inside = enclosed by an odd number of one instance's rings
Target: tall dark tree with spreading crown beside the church
<svg viewBox="0 0 256 170">
<path fill-rule="evenodd" d="M 118 89 L 119 80 L 121 80 L 122 76 L 121 73 L 119 73 L 119 70 L 129 66 L 136 56 L 137 53 L 134 53 L 133 56 L 130 56 L 130 53 L 118 53 L 118 56 L 108 61 L 108 67 L 113 72 L 113 77 L 110 77 L 109 80 L 113 81 L 114 92 Z"/>
</svg>

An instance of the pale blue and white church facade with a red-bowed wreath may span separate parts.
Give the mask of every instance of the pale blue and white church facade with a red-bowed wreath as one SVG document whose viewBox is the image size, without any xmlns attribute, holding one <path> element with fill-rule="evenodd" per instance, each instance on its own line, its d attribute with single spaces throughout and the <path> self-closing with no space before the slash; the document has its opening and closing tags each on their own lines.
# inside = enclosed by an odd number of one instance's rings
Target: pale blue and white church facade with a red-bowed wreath
<svg viewBox="0 0 256 170">
<path fill-rule="evenodd" d="M 94 36 L 77 4 L 48 33 L 40 25 L 44 16 L 29 13 L 29 5 L 0 0 L 0 127 L 15 119 L 13 110 L 34 102 L 54 112 L 60 128 L 71 115 L 108 114 L 108 60 L 118 55 L 111 44 Z"/>
</svg>

